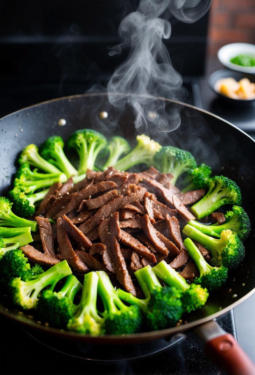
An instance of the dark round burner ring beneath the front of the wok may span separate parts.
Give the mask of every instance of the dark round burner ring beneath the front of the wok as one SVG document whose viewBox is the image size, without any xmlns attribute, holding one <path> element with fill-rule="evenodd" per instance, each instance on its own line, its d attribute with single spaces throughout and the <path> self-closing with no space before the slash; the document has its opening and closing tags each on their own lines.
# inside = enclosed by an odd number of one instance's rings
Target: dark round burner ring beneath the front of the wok
<svg viewBox="0 0 255 375">
<path fill-rule="evenodd" d="M 43 335 L 40 332 L 24 329 L 30 338 L 43 344 L 49 349 L 67 356 L 89 360 L 95 363 L 121 363 L 143 360 L 172 348 L 184 340 L 184 335 L 175 335 L 169 338 L 144 342 L 132 345 L 100 345 L 88 344 L 86 342 L 71 342 L 65 339 L 54 338 Z"/>
</svg>

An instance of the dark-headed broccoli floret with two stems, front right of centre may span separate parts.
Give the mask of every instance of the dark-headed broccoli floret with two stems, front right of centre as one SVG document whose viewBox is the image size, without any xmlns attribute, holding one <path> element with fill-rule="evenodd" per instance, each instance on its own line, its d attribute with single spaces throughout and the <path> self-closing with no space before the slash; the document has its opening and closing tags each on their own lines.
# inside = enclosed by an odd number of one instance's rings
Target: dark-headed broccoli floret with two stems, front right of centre
<svg viewBox="0 0 255 375">
<path fill-rule="evenodd" d="M 166 329 L 175 326 L 183 313 L 182 293 L 175 287 L 162 287 L 149 265 L 135 272 L 145 299 L 134 297 L 121 289 L 118 296 L 130 305 L 138 306 L 150 330 Z"/>
</svg>

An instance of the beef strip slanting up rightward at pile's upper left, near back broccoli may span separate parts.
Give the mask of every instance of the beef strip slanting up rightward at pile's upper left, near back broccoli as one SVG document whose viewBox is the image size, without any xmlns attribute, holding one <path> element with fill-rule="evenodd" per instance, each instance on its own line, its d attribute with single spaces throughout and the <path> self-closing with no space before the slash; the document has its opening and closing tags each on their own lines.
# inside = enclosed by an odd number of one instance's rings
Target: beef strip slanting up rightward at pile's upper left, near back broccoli
<svg viewBox="0 0 255 375">
<path fill-rule="evenodd" d="M 98 184 L 86 187 L 85 189 L 80 190 L 77 193 L 69 194 L 68 196 L 71 196 L 70 202 L 68 202 L 68 204 L 66 204 L 64 208 L 62 208 L 61 211 L 56 213 L 52 218 L 55 220 L 58 217 L 61 217 L 64 214 L 68 213 L 69 211 L 76 209 L 77 207 L 79 207 L 83 199 L 88 199 L 90 198 L 90 196 L 108 189 L 114 189 L 116 186 L 116 183 L 113 181 L 102 181 Z"/>
</svg>

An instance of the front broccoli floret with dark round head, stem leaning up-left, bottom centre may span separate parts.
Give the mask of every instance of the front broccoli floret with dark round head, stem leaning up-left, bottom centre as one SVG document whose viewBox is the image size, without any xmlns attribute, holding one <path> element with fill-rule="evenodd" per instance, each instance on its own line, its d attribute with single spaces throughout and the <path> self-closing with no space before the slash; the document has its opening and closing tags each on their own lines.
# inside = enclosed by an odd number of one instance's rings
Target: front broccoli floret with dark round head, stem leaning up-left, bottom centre
<svg viewBox="0 0 255 375">
<path fill-rule="evenodd" d="M 104 271 L 98 275 L 98 294 L 104 305 L 104 330 L 111 335 L 128 335 L 139 331 L 142 312 L 137 306 L 127 306 L 119 298 L 109 276 Z"/>
</svg>

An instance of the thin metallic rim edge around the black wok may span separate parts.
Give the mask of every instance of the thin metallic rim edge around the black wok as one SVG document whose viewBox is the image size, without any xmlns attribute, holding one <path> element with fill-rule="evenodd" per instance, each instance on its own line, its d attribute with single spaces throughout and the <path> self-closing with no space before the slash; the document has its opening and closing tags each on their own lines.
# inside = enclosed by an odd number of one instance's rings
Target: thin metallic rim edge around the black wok
<svg viewBox="0 0 255 375">
<path fill-rule="evenodd" d="M 122 94 L 122 93 L 110 93 L 110 94 L 111 95 L 120 95 L 120 96 L 121 95 L 125 95 L 125 96 L 134 95 L 134 94 Z M 17 111 L 9 113 L 9 114 L 1 117 L 0 121 L 3 120 L 6 117 L 9 117 L 10 115 L 20 113 L 23 110 L 29 110 L 30 108 L 39 107 L 40 105 L 44 105 L 44 104 L 59 102 L 59 101 L 62 101 L 62 100 L 64 101 L 64 100 L 68 100 L 68 99 L 71 100 L 71 99 L 76 99 L 76 98 L 85 98 L 85 97 L 93 97 L 93 96 L 108 96 L 108 95 L 109 95 L 108 92 L 98 92 L 98 93 L 77 94 L 77 95 L 70 95 L 70 96 L 63 96 L 63 97 L 59 97 L 59 98 L 49 99 L 47 101 L 39 102 L 37 104 L 33 104 L 33 105 L 28 106 L 28 107 L 24 107 L 24 108 L 21 108 Z M 162 101 L 165 101 L 165 102 L 173 102 L 173 103 L 176 103 L 176 104 L 179 104 L 179 105 L 183 105 L 184 107 L 193 108 L 193 109 L 195 109 L 199 112 L 208 114 L 208 115 L 210 115 L 212 117 L 215 117 L 215 118 L 217 118 L 221 121 L 224 121 L 228 125 L 234 127 L 235 129 L 239 130 L 240 132 L 242 132 L 245 136 L 250 138 L 253 142 L 255 142 L 255 140 L 250 135 L 248 135 L 245 131 L 243 131 L 242 129 L 240 129 L 236 125 L 230 123 L 229 121 L 225 120 L 224 118 L 219 117 L 218 115 L 215 115 L 215 114 L 213 114 L 209 111 L 203 110 L 202 108 L 198 108 L 194 105 L 187 104 L 187 103 L 184 103 L 184 102 L 180 102 L 180 101 L 177 101 L 175 99 L 155 97 L 155 96 L 143 95 L 143 94 L 140 94 L 140 95 L 136 94 L 134 96 L 156 98 L 158 100 L 162 100 Z M 193 330 L 197 326 L 201 326 L 205 323 L 208 323 L 209 321 L 216 320 L 217 318 L 223 316 L 224 314 L 229 312 L 231 309 L 235 308 L 240 303 L 244 302 L 246 299 L 251 297 L 252 294 L 254 294 L 254 293 L 255 293 L 255 287 L 251 291 L 249 291 L 247 294 L 245 294 L 245 296 L 243 296 L 240 299 L 236 300 L 235 302 L 231 303 L 230 305 L 228 305 L 224 309 L 219 310 L 218 312 L 215 312 L 211 315 L 208 315 L 207 317 L 200 318 L 198 320 L 194 320 L 194 321 L 191 321 L 191 322 L 186 323 L 186 324 L 181 324 L 180 326 L 175 326 L 175 327 L 171 327 L 171 328 L 159 330 L 159 331 L 141 332 L 141 333 L 135 333 L 135 334 L 123 335 L 123 336 L 120 336 L 120 335 L 91 336 L 91 335 L 82 335 L 80 333 L 61 330 L 61 329 L 55 329 L 53 327 L 41 325 L 40 322 L 37 322 L 35 320 L 32 320 L 32 319 L 29 320 L 28 317 L 26 317 L 26 319 L 24 319 L 24 317 L 22 317 L 22 315 L 26 315 L 25 311 L 23 312 L 23 314 L 20 314 L 18 312 L 18 310 L 16 309 L 15 310 L 16 314 L 15 313 L 13 314 L 13 313 L 10 313 L 8 311 L 8 309 L 4 308 L 4 306 L 1 306 L 1 305 L 0 305 L 0 314 L 3 315 L 4 317 L 10 319 L 10 320 L 14 320 L 16 323 L 21 324 L 22 326 L 27 326 L 27 327 L 39 330 L 43 333 L 52 334 L 54 336 L 59 336 L 59 337 L 62 337 L 62 338 L 64 337 L 65 339 L 73 339 L 73 340 L 82 341 L 82 342 L 88 342 L 89 341 L 89 342 L 92 342 L 92 343 L 99 343 L 99 344 L 104 344 L 105 342 L 107 342 L 109 344 L 117 344 L 117 343 L 130 344 L 130 343 L 133 343 L 133 342 L 140 343 L 140 342 L 145 342 L 145 341 L 149 341 L 149 340 L 153 341 L 153 340 L 157 340 L 157 339 L 160 339 L 160 338 L 163 338 L 163 337 L 166 337 L 166 336 L 173 336 L 175 334 L 178 335 L 182 332 L 185 332 L 185 331 L 188 331 L 188 330 Z"/>
</svg>

